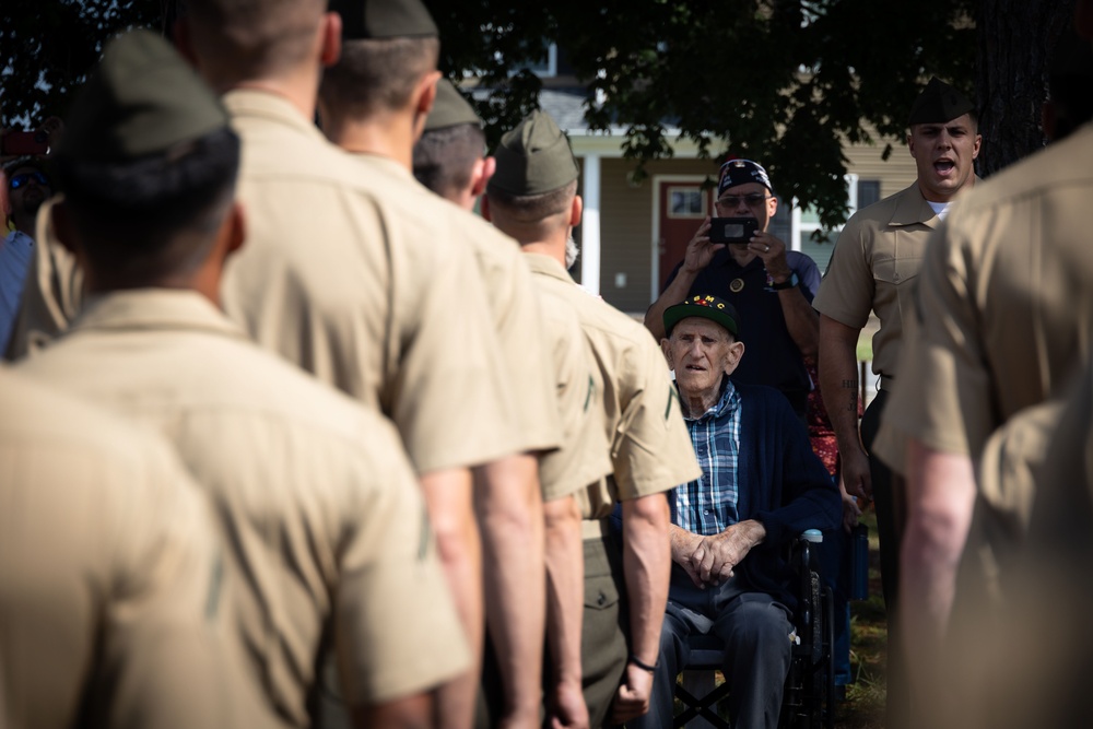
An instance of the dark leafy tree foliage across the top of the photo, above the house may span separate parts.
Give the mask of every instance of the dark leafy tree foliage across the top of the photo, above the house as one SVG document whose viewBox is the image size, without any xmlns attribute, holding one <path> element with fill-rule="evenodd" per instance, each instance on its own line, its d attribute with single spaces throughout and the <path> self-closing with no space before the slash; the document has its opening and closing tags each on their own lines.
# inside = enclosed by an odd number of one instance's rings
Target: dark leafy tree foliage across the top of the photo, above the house
<svg viewBox="0 0 1093 729">
<path fill-rule="evenodd" d="M 968 93 L 975 82 L 985 149 L 1006 145 L 997 161 L 987 154 L 986 172 L 1039 146 L 1046 49 L 1073 7 L 1072 0 L 425 2 L 440 27 L 443 70 L 492 90 L 478 102 L 491 140 L 538 103 L 541 80 L 514 69 L 555 43 L 584 89 L 588 126 L 625 129 L 628 157 L 670 156 L 669 130 L 678 129 L 704 155 L 761 160 L 778 191 L 814 205 L 827 227 L 845 216 L 843 143 L 875 141 L 872 130 L 902 137 L 910 102 L 930 75 Z M 2 121 L 30 117 L 33 125 L 63 114 L 106 38 L 133 26 L 162 27 L 175 4 L 5 0 Z M 878 155 L 890 152 L 878 145 Z"/>
</svg>

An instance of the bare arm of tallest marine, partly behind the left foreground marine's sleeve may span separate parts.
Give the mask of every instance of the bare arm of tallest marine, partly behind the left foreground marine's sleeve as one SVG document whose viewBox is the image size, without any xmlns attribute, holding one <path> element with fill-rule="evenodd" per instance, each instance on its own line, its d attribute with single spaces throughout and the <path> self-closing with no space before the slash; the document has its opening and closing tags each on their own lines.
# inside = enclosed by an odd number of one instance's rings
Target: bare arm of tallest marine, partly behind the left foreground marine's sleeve
<svg viewBox="0 0 1093 729">
<path fill-rule="evenodd" d="M 459 611 L 471 667 L 437 691 L 434 715 L 446 727 L 469 728 L 474 721 L 474 697 L 482 672 L 482 545 L 474 520 L 473 481 L 468 469 L 433 471 L 421 477 L 437 553 L 448 588 Z"/>
</svg>

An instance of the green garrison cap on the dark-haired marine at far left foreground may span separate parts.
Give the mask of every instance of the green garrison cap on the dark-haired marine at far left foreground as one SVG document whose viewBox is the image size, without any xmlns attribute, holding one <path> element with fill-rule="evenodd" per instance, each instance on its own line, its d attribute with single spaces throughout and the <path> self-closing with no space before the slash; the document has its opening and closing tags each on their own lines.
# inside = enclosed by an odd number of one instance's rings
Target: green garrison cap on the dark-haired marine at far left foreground
<svg viewBox="0 0 1093 729">
<path fill-rule="evenodd" d="M 102 162 L 163 152 L 228 126 L 212 90 L 149 31 L 106 45 L 68 118 L 58 155 Z"/>
</svg>

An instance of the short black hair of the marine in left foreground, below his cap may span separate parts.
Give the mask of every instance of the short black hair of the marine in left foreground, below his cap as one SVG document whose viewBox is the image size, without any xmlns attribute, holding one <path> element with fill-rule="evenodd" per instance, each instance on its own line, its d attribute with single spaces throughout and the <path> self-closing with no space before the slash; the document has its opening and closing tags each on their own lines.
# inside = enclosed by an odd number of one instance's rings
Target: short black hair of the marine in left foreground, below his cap
<svg viewBox="0 0 1093 729">
<path fill-rule="evenodd" d="M 219 129 L 131 162 L 59 156 L 57 180 L 92 266 L 130 281 L 196 270 L 234 198 L 239 148 Z"/>
</svg>

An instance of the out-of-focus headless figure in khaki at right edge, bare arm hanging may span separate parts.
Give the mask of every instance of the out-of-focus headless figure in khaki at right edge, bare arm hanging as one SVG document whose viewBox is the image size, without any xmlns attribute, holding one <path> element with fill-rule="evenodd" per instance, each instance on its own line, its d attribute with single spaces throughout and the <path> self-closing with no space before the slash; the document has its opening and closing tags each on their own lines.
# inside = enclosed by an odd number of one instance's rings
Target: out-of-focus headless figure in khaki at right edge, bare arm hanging
<svg viewBox="0 0 1093 729">
<path fill-rule="evenodd" d="M 1078 3 L 1076 20 L 1093 36 L 1093 1 Z M 877 445 L 908 479 L 901 605 L 916 726 L 939 726 L 966 694 L 977 695 L 974 674 L 954 679 L 961 663 L 950 659 L 968 646 L 957 639 L 963 619 L 951 623 L 950 613 L 961 555 L 982 546 L 969 531 L 984 446 L 1021 410 L 1057 397 L 1090 361 L 1091 199 L 1093 126 L 1085 124 L 962 198 L 922 262 L 904 349 L 908 376 L 896 381 Z M 1044 618 L 1057 620 L 1050 610 Z"/>
</svg>

